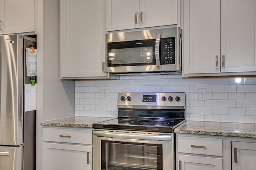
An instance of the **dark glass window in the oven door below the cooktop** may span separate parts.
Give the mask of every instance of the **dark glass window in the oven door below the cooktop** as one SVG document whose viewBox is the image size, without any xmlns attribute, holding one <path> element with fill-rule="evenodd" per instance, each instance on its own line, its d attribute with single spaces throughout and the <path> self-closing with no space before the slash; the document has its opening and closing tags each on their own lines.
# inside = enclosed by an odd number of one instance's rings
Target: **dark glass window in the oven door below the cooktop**
<svg viewBox="0 0 256 170">
<path fill-rule="evenodd" d="M 162 145 L 104 141 L 102 170 L 162 170 Z"/>
</svg>

